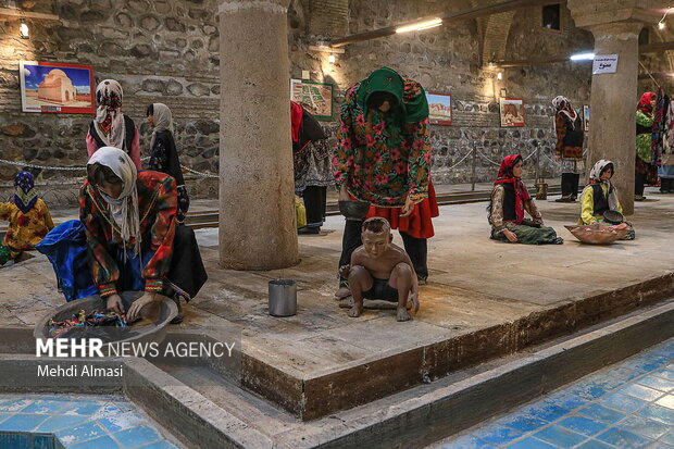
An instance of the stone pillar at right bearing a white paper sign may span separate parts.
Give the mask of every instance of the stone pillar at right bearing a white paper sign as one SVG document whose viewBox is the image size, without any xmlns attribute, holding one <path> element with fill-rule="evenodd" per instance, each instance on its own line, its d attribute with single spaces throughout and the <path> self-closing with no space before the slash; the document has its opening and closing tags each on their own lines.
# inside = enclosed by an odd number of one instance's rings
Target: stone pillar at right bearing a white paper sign
<svg viewBox="0 0 674 449">
<path fill-rule="evenodd" d="M 613 183 L 624 213 L 634 213 L 638 37 L 644 23 L 654 24 L 664 7 L 654 0 L 569 0 L 575 25 L 595 36 L 595 54 L 617 54 L 617 71 L 592 75 L 589 169 L 599 159 L 616 164 Z"/>
</svg>

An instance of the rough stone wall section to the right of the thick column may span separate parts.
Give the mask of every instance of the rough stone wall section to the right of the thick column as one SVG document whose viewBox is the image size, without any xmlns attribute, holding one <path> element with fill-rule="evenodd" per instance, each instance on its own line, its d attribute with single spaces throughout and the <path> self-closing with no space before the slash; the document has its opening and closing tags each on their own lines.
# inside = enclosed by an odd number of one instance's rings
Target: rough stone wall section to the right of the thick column
<svg viewBox="0 0 674 449">
<path fill-rule="evenodd" d="M 309 0 L 294 1 L 298 11 L 302 10 L 300 4 L 307 10 L 310 3 Z M 467 1 L 451 2 L 451 5 L 439 5 L 427 0 L 351 2 L 349 34 L 470 7 Z M 562 32 L 550 32 L 538 26 L 540 8 L 516 12 L 506 36 L 508 59 L 531 59 L 540 54 L 540 48 L 550 54 L 569 52 L 569 48 L 591 48 L 591 35 L 574 28 L 569 11 L 563 10 Z M 504 154 L 516 151 L 526 157 L 536 148 L 548 157 L 540 158 L 541 173 L 557 176 L 558 166 L 550 161 L 556 141 L 550 101 L 558 95 L 565 95 L 577 108 L 589 103 L 591 74 L 587 63 L 508 68 L 503 71 L 503 79 L 497 80 L 498 71 L 484 70 L 486 62 L 482 60 L 480 48 L 484 32 L 476 21 L 455 22 L 422 33 L 350 45 L 345 54 L 337 55 L 335 64 L 327 62 L 327 53 L 309 51 L 310 45 L 325 36 L 312 36 L 301 14 L 291 12 L 290 25 L 291 76 L 299 78 L 302 70 L 309 70 L 312 80 L 334 83 L 337 103 L 342 101 L 346 88 L 383 65 L 421 82 L 426 90 L 452 93 L 452 125 L 432 126 L 433 176 L 436 183 L 470 182 L 471 158 L 459 165 L 457 163 L 473 147 L 484 154 L 475 161 L 478 182 L 495 177 L 498 167 L 494 162 L 499 162 Z M 498 97 L 501 88 L 507 89 L 509 97 L 524 99 L 526 127 L 500 127 Z M 338 104 L 335 117 L 337 115 Z M 529 161 L 525 176 L 533 177 L 535 157 Z"/>
</svg>

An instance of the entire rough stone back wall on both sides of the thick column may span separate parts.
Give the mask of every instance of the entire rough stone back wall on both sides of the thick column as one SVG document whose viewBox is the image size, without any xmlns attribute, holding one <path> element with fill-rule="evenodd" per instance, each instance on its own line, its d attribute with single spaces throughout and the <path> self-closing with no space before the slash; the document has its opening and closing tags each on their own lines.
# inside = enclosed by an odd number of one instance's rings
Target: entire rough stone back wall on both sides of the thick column
<svg viewBox="0 0 674 449">
<path fill-rule="evenodd" d="M 24 7 L 30 8 L 32 3 L 24 2 Z M 146 107 L 151 102 L 166 103 L 174 113 L 182 162 L 197 171 L 217 173 L 221 95 L 217 3 L 217 0 L 37 2 L 34 8 L 63 20 L 28 20 L 29 40 L 18 38 L 17 20 L 0 16 L 0 158 L 39 165 L 84 165 L 89 116 L 21 112 L 18 61 L 58 61 L 93 65 L 97 83 L 104 78 L 122 83 L 125 91 L 122 109 L 139 126 L 145 153 L 150 136 L 145 122 Z M 336 9 L 328 10 L 329 5 Z M 588 104 L 590 64 L 506 68 L 502 80 L 498 80 L 498 71 L 489 68 L 485 59 L 499 52 L 503 53 L 497 54 L 500 58 L 519 60 L 591 49 L 591 35 L 575 28 L 564 8 L 561 32 L 544 29 L 540 8 L 529 8 L 489 21 L 450 22 L 421 33 L 350 45 L 344 54 L 337 54 L 336 64 L 328 63 L 327 53 L 309 51 L 309 46 L 317 40 L 473 5 L 470 0 L 292 0 L 288 13 L 290 76 L 299 78 L 302 71 L 310 71 L 311 79 L 333 83 L 335 119 L 344 90 L 383 65 L 421 82 L 427 90 L 452 93 L 453 124 L 432 127 L 433 173 L 437 183 L 470 180 L 470 158 L 457 163 L 473 146 L 484 154 L 476 160 L 478 180 L 495 176 L 497 169 L 492 162 L 503 154 L 519 151 L 528 155 L 536 148 L 544 151 L 544 173 L 556 176 L 556 165 L 548 159 L 554 145 L 550 101 L 557 95 L 565 95 L 576 108 Z M 496 26 L 495 21 L 503 23 Z M 663 58 L 656 54 L 645 58 L 645 62 L 660 71 L 667 66 Z M 499 126 L 498 97 L 502 88 L 508 97 L 523 98 L 526 127 Z M 533 175 L 533 166 L 528 164 L 527 175 Z M 0 163 L 0 184 L 10 183 L 15 172 L 16 167 Z M 50 183 L 67 180 L 73 175 L 38 173 L 40 182 Z M 215 179 L 188 175 L 187 182 L 195 196 L 216 195 Z"/>
</svg>

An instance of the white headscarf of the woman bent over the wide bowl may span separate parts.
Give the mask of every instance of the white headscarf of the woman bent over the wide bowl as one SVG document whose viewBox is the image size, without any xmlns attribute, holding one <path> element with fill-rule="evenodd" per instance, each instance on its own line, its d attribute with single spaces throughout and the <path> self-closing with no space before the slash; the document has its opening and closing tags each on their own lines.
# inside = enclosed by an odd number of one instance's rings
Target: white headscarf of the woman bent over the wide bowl
<svg viewBox="0 0 674 449">
<path fill-rule="evenodd" d="M 110 214 L 115 225 L 120 228 L 120 235 L 124 242 L 135 238 L 134 254 L 140 252 L 140 219 L 138 212 L 138 191 L 136 180 L 138 174 L 136 165 L 126 152 L 118 148 L 103 147 L 91 155 L 87 165 L 101 164 L 122 179 L 122 194 L 118 198 L 112 198 L 99 189 L 99 194 L 110 208 Z M 113 229 L 114 230 L 114 229 Z M 126 254 L 126 251 L 124 251 Z"/>
</svg>

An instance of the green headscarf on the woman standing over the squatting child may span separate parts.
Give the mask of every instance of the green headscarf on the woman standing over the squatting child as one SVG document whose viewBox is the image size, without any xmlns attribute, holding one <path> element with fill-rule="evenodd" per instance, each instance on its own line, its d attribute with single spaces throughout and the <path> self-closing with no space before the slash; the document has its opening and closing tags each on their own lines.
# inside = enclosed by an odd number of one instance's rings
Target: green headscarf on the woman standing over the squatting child
<svg viewBox="0 0 674 449">
<path fill-rule="evenodd" d="M 357 101 L 364 111 L 367 110 L 367 100 L 374 92 L 388 92 L 396 97 L 396 114 L 400 124 L 416 123 L 428 117 L 428 101 L 424 89 L 420 86 L 419 95 L 408 98 L 405 102 L 404 79 L 392 68 L 378 68 L 361 82 Z"/>
</svg>

